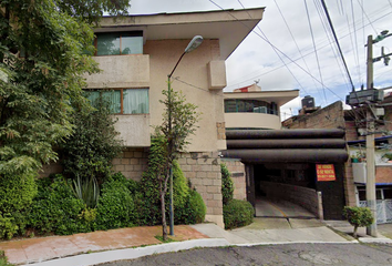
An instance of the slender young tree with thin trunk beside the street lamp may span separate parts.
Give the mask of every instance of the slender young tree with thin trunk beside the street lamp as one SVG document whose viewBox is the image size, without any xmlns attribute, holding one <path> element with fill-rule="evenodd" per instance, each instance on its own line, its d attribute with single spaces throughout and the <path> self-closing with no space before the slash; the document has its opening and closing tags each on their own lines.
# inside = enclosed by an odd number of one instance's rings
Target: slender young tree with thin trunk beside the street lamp
<svg viewBox="0 0 392 266">
<path fill-rule="evenodd" d="M 164 141 L 159 142 L 161 149 L 166 151 L 161 167 L 157 167 L 156 180 L 159 184 L 161 213 L 162 213 L 162 233 L 163 239 L 167 239 L 167 224 L 165 214 L 165 195 L 167 192 L 167 181 L 171 177 L 171 170 L 175 160 L 178 158 L 180 152 L 189 144 L 187 137 L 195 134 L 196 123 L 200 113 L 196 112 L 197 106 L 186 103 L 185 96 L 173 91 L 171 84 L 168 91 L 162 93 L 165 100 L 159 102 L 165 105 L 163 114 L 163 123 L 155 127 L 156 135 Z"/>
</svg>

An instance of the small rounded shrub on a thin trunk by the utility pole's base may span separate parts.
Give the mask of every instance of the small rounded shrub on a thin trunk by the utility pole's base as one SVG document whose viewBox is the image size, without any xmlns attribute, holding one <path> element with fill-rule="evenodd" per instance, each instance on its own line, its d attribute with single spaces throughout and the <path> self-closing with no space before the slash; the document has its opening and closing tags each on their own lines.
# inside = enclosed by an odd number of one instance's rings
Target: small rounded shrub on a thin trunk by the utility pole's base
<svg viewBox="0 0 392 266">
<path fill-rule="evenodd" d="M 343 208 L 343 215 L 347 221 L 354 226 L 353 236 L 357 237 L 358 227 L 370 226 L 374 218 L 372 212 L 368 207 L 349 207 Z"/>
</svg>

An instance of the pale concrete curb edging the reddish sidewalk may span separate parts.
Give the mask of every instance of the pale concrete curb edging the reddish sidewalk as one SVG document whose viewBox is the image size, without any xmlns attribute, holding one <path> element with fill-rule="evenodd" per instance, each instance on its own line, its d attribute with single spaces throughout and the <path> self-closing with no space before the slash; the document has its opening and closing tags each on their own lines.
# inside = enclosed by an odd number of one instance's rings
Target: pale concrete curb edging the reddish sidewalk
<svg viewBox="0 0 392 266">
<path fill-rule="evenodd" d="M 224 238 L 192 239 L 185 242 L 172 242 L 146 247 L 128 247 L 92 254 L 82 254 L 64 258 L 50 259 L 45 262 L 24 264 L 25 266 L 91 266 L 96 264 L 110 263 L 115 260 L 134 259 L 154 254 L 187 250 L 196 247 L 219 247 L 229 246 Z"/>
</svg>

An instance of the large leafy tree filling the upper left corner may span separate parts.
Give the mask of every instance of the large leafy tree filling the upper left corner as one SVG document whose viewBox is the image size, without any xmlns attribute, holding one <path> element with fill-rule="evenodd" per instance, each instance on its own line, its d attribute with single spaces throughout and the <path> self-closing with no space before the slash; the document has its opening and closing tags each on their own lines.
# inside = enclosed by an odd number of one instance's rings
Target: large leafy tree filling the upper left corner
<svg viewBox="0 0 392 266">
<path fill-rule="evenodd" d="M 127 0 L 0 1 L 0 175 L 38 171 L 86 105 L 82 75 L 97 71 L 93 22 Z"/>
</svg>

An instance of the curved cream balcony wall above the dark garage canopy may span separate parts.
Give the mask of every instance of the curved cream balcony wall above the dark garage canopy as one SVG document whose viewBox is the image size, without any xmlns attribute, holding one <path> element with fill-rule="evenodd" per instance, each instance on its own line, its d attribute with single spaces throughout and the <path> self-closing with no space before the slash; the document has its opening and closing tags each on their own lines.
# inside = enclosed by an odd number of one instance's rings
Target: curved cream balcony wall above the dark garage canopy
<svg viewBox="0 0 392 266">
<path fill-rule="evenodd" d="M 225 113 L 226 127 L 280 130 L 280 116 L 265 113 Z"/>
</svg>

